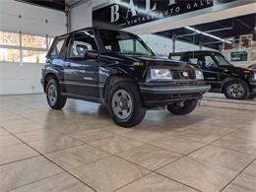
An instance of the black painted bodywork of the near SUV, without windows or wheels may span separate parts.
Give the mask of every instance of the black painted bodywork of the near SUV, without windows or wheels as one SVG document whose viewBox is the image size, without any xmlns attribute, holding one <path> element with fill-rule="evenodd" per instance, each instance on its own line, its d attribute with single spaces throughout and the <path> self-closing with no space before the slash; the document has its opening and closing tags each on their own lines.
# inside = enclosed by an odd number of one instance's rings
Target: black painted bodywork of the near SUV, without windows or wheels
<svg viewBox="0 0 256 192">
<path fill-rule="evenodd" d="M 165 105 L 172 102 L 200 99 L 203 94 L 210 90 L 204 81 L 200 80 L 180 80 L 180 81 L 162 81 L 148 82 L 149 69 L 151 67 L 173 67 L 183 69 L 199 69 L 196 65 L 185 62 L 176 62 L 169 59 L 160 59 L 154 53 L 152 56 L 142 56 L 136 54 L 108 53 L 101 44 L 97 28 L 92 30 L 96 34 L 96 43 L 98 52 L 95 56 L 88 56 L 82 60 L 71 60 L 66 57 L 65 52 L 68 49 L 70 39 L 74 32 L 64 34 L 59 37 L 65 37 L 64 48 L 57 57 L 51 57 L 47 54 L 47 63 L 42 68 L 41 83 L 46 86 L 47 77 L 54 75 L 57 77 L 61 86 L 62 96 L 79 98 L 95 102 L 105 100 L 106 87 L 108 80 L 112 76 L 125 76 L 134 80 L 141 91 L 143 102 L 147 107 Z M 79 31 L 76 31 L 79 32 Z M 56 40 L 55 38 L 55 40 Z M 54 40 L 54 41 L 55 41 Z M 53 44 L 54 44 L 53 41 Z M 49 50 L 51 51 L 52 46 Z M 149 48 L 149 50 L 151 50 Z M 142 63 L 135 66 L 134 63 Z M 167 92 L 161 92 L 160 88 Z M 173 92 L 171 89 L 180 89 L 179 92 Z M 147 91 L 147 89 L 150 89 Z M 155 91 L 160 91 L 156 92 Z M 175 90 L 174 90 L 175 91 Z M 185 92 L 186 91 L 186 92 Z"/>
</svg>

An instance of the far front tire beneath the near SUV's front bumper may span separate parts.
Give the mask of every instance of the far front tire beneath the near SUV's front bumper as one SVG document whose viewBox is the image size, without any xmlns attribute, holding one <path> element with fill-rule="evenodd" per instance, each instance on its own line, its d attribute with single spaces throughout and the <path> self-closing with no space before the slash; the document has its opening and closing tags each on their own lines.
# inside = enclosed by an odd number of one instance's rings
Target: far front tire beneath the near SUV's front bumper
<svg viewBox="0 0 256 192">
<path fill-rule="evenodd" d="M 167 109 L 172 114 L 185 115 L 192 112 L 197 107 L 198 100 L 186 100 L 182 105 L 174 103 L 167 105 Z"/>
</svg>

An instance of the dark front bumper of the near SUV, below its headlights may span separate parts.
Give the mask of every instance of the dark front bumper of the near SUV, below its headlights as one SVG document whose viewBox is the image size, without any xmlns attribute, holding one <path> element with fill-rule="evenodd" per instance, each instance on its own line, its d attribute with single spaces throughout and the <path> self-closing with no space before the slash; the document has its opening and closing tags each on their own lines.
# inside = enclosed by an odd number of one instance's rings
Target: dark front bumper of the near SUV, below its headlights
<svg viewBox="0 0 256 192">
<path fill-rule="evenodd" d="M 208 85 L 191 86 L 147 86 L 140 85 L 140 91 L 145 106 L 164 106 L 174 102 L 201 99 L 203 94 L 210 91 Z"/>
</svg>

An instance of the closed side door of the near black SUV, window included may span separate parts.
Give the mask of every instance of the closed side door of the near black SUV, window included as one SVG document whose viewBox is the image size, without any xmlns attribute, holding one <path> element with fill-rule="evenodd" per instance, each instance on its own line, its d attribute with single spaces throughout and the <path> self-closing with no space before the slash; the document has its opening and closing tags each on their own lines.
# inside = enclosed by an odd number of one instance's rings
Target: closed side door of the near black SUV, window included
<svg viewBox="0 0 256 192">
<path fill-rule="evenodd" d="M 97 51 L 95 32 L 74 32 L 64 63 L 64 83 L 68 94 L 98 97 L 98 71 L 96 58 L 86 57 L 87 52 Z"/>
</svg>

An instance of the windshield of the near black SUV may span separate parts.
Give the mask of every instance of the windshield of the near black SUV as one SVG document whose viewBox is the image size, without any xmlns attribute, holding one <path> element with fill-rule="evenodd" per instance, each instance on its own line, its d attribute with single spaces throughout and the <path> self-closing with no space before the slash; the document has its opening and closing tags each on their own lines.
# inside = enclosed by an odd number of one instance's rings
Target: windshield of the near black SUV
<svg viewBox="0 0 256 192">
<path fill-rule="evenodd" d="M 107 52 L 152 56 L 154 53 L 137 35 L 129 32 L 99 30 L 99 36 Z"/>
</svg>

